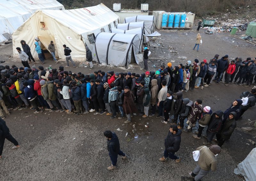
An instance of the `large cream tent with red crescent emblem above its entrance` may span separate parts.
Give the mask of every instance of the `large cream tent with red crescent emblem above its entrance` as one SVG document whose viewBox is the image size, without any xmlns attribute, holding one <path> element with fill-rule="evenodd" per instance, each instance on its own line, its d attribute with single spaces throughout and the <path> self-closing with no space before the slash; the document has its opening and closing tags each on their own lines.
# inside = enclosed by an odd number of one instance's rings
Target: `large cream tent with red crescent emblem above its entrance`
<svg viewBox="0 0 256 181">
<path fill-rule="evenodd" d="M 48 48 L 52 40 L 56 48 L 56 56 L 65 59 L 63 44 L 72 50 L 72 59 L 85 61 L 85 45 L 92 50 L 95 37 L 100 32 L 110 32 L 119 17 L 104 4 L 73 10 L 38 10 L 13 34 L 13 53 L 21 47 L 20 40 L 25 40 L 35 51 L 35 37 Z M 41 47 L 42 48 L 42 47 Z"/>
</svg>

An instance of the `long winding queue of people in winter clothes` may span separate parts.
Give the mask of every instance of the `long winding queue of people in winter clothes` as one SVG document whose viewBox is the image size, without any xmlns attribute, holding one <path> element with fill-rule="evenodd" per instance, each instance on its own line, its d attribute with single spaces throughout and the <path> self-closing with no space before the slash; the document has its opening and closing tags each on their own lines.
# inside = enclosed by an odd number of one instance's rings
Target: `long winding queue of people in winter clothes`
<svg viewBox="0 0 256 181">
<path fill-rule="evenodd" d="M 24 45 L 24 42 L 21 43 Z M 19 47 L 16 49 L 20 53 L 23 65 L 28 65 L 28 62 L 24 63 L 23 51 Z M 90 57 L 89 49 L 86 54 Z M 30 57 L 30 54 L 27 56 Z M 54 54 L 52 56 L 54 57 Z M 70 60 L 69 57 L 66 59 Z M 216 54 L 209 62 L 204 59 L 199 63 L 199 60 L 195 59 L 193 63 L 187 61 L 186 65 L 179 64 L 174 67 L 169 62 L 166 68 L 161 65 L 160 69 L 146 71 L 141 75 L 132 72 L 119 73 L 102 70 L 90 74 L 72 73 L 72 71 L 64 69 L 63 66 L 59 66 L 57 70 L 52 67 L 44 69 L 42 65 L 31 68 L 29 66 L 16 67 L 15 65 L 10 68 L 9 65 L 6 65 L 5 67 L 1 66 L 0 70 L 0 104 L 6 114 L 10 114 L 11 110 L 26 108 L 34 110 L 34 113 L 44 111 L 76 115 L 89 112 L 92 112 L 93 115 L 106 113 L 110 119 L 127 117 L 124 123 L 129 123 L 132 121 L 132 116 L 153 117 L 158 112 L 156 118 L 162 123 L 171 122 L 171 128 L 165 140 L 164 157 L 159 160 L 166 161 L 169 156 L 177 163 L 180 162 L 181 157 L 175 156 L 175 152 L 179 150 L 183 128 L 184 132 L 192 132 L 192 128 L 199 121 L 198 130 L 195 131 L 196 134 L 193 137 L 200 139 L 204 127 L 208 126 L 207 141 L 204 142 L 204 145 L 212 144 L 213 137 L 216 135 L 218 146 L 221 147 L 224 141 L 230 138 L 236 127 L 236 121 L 242 118 L 247 109 L 255 105 L 256 100 L 254 87 L 250 92 L 243 92 L 241 97 L 235 99 L 227 110 L 212 112 L 209 105 L 202 106 L 203 101 L 200 99 L 193 102 L 189 98 L 183 98 L 183 91 L 187 92 L 189 89 L 193 91 L 200 85 L 201 89 L 204 89 L 204 87 L 210 86 L 212 81 L 215 81 L 216 84 L 223 82 L 226 86 L 229 83 L 244 85 L 244 87 L 255 84 L 255 58 L 253 60 L 247 58 L 243 61 L 242 58 L 237 57 L 235 60 L 229 61 L 228 55 L 219 59 L 219 55 Z M 222 81 L 224 72 L 225 81 Z M 238 82 L 236 82 L 237 80 Z M 254 83 L 252 83 L 253 80 Z M 150 108 L 151 113 L 149 113 Z M 171 110 L 174 112 L 172 119 L 170 119 Z M 119 116 L 117 116 L 118 114 Z M 1 119 L 5 118 L 2 109 L 0 109 L 0 117 Z M 188 124 L 186 129 L 184 127 L 185 120 Z M 111 139 L 110 132 L 106 135 L 108 139 Z M 11 140 L 13 141 L 13 139 Z M 15 148 L 19 148 L 17 141 L 14 144 Z M 123 152 L 115 153 L 126 158 Z M 112 167 L 115 168 L 115 165 Z M 111 168 L 110 170 L 112 170 Z M 195 169 L 195 172 L 199 171 L 200 169 Z"/>
</svg>

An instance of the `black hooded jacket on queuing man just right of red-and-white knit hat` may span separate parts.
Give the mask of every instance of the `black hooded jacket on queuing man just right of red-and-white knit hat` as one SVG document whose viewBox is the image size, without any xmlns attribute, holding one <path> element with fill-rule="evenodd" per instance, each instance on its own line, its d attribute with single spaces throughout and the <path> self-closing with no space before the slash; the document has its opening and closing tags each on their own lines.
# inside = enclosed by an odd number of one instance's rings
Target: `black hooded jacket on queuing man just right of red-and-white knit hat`
<svg viewBox="0 0 256 181">
<path fill-rule="evenodd" d="M 215 115 L 219 116 L 219 118 L 216 118 Z M 216 111 L 212 114 L 211 120 L 207 128 L 208 131 L 212 133 L 216 133 L 220 130 L 222 125 L 222 115 L 223 115 L 222 111 Z"/>
</svg>

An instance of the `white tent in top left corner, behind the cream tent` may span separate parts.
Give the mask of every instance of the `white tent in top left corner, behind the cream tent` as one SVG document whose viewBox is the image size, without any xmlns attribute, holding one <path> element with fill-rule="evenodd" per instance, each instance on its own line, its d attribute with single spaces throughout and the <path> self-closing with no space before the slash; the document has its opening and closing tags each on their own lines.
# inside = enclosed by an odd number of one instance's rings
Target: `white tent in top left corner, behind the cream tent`
<svg viewBox="0 0 256 181">
<path fill-rule="evenodd" d="M 11 40 L 12 33 L 37 9 L 65 10 L 56 0 L 2 0 L 0 1 L 0 42 Z"/>
</svg>

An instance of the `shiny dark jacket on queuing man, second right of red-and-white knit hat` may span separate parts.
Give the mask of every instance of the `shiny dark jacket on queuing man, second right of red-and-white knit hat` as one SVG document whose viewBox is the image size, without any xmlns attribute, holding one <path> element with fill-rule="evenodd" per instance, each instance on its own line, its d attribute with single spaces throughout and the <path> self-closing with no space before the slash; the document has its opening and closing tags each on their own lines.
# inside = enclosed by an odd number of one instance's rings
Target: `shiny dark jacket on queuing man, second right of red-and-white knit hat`
<svg viewBox="0 0 256 181">
<path fill-rule="evenodd" d="M 236 128 L 236 112 L 230 112 L 230 114 L 233 114 L 234 118 L 228 118 L 222 125 L 221 130 L 218 132 L 224 140 L 228 140 Z"/>
</svg>

